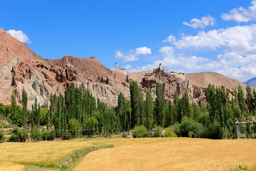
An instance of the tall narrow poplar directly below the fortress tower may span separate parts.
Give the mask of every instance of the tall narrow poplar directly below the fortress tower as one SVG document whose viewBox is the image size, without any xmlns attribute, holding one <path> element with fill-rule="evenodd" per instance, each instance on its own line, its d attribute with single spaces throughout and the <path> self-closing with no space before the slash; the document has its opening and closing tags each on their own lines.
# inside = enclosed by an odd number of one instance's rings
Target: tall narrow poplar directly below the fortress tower
<svg viewBox="0 0 256 171">
<path fill-rule="evenodd" d="M 157 82 L 157 98 L 156 98 L 156 105 L 155 105 L 155 120 L 158 126 L 163 127 L 164 124 L 164 99 L 163 99 L 163 88 L 160 82 Z"/>
</svg>

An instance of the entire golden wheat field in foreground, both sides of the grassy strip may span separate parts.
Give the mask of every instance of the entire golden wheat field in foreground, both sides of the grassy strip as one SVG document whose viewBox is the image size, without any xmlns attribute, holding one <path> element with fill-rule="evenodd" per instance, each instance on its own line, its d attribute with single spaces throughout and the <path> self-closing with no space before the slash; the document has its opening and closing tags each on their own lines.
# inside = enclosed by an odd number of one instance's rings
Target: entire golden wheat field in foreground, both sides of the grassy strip
<svg viewBox="0 0 256 171">
<path fill-rule="evenodd" d="M 74 171 L 230 171 L 238 165 L 255 167 L 256 140 L 190 138 L 75 139 L 60 142 L 2 143 L 0 171 L 37 170 L 58 165 L 74 150 L 113 148 L 88 153 L 69 170 Z M 30 169 L 27 169 L 31 166 Z M 38 168 L 39 170 L 39 168 Z M 43 170 L 40 169 L 40 170 Z"/>
</svg>

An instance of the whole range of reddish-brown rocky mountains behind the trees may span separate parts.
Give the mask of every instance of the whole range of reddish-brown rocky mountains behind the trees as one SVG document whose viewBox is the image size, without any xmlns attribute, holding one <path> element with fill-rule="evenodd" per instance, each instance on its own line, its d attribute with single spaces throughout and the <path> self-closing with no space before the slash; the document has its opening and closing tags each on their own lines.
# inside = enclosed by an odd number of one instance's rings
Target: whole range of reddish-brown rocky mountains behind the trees
<svg viewBox="0 0 256 171">
<path fill-rule="evenodd" d="M 40 105 L 48 107 L 51 93 L 64 94 L 67 86 L 74 85 L 82 86 L 84 89 L 89 88 L 93 96 L 107 103 L 108 106 L 116 106 L 120 92 L 125 94 L 126 100 L 130 100 L 130 90 L 129 83 L 111 77 L 113 72 L 95 57 L 64 56 L 62 59 L 43 59 L 0 28 L 0 103 L 10 104 L 14 89 L 16 100 L 21 104 L 21 91 L 25 88 L 29 108 L 34 103 L 35 97 Z M 148 73 L 151 73 L 150 77 L 145 77 Z M 229 90 L 234 90 L 239 83 L 245 88 L 245 85 L 237 80 L 209 72 L 186 74 L 185 80 L 173 74 L 153 73 L 153 71 L 127 72 L 127 74 L 129 74 L 128 82 L 143 78 L 138 84 L 144 93 L 146 88 L 151 88 L 154 97 L 156 97 L 155 85 L 159 80 L 163 85 L 166 100 L 172 100 L 175 91 L 178 91 L 181 97 L 187 88 L 191 102 L 205 103 L 204 89 L 208 83 Z"/>
</svg>

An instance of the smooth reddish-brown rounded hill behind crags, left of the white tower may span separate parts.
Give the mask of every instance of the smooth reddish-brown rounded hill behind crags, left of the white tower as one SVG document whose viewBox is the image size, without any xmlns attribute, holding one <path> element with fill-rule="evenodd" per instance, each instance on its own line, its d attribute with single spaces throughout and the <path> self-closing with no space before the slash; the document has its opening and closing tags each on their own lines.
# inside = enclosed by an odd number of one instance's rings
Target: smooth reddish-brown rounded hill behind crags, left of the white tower
<svg viewBox="0 0 256 171">
<path fill-rule="evenodd" d="M 97 79 L 97 77 L 106 77 L 111 75 L 112 71 L 102 65 L 95 57 L 78 58 L 74 56 L 63 56 L 62 59 L 54 59 L 51 61 L 53 65 L 63 67 L 68 62 L 81 71 L 84 77 L 89 79 Z"/>
</svg>

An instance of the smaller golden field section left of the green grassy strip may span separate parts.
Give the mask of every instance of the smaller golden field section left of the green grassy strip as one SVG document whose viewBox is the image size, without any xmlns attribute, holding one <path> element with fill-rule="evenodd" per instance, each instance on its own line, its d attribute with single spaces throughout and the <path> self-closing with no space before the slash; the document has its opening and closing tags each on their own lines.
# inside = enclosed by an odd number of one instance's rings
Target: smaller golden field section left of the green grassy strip
<svg viewBox="0 0 256 171">
<path fill-rule="evenodd" d="M 101 145 L 102 143 L 95 144 L 91 141 L 79 140 L 33 143 L 5 142 L 0 144 L 0 162 L 57 167 L 74 150 Z"/>
</svg>

